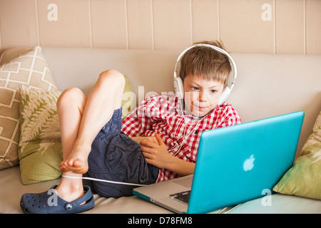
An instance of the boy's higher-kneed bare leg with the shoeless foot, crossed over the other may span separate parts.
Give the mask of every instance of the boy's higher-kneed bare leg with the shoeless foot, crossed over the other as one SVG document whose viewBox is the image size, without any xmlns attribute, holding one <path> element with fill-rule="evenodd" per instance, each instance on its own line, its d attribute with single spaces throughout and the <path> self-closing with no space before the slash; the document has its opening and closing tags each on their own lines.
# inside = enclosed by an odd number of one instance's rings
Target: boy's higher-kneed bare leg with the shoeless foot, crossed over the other
<svg viewBox="0 0 321 228">
<path fill-rule="evenodd" d="M 87 157 L 91 151 L 91 143 L 101 128 L 111 120 L 113 111 L 121 108 L 124 86 L 125 79 L 118 71 L 101 73 L 83 108 L 78 137 L 73 149 L 66 160 L 61 162 L 62 171 L 81 174 L 87 172 Z"/>
</svg>

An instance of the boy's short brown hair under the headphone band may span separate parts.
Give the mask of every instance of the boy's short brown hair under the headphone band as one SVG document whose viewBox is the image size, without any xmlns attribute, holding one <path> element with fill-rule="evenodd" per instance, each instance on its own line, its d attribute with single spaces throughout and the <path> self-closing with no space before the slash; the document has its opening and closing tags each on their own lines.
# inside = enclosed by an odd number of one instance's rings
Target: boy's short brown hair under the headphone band
<svg viewBox="0 0 321 228">
<path fill-rule="evenodd" d="M 210 44 L 225 50 L 221 41 L 201 41 L 195 44 Z M 232 68 L 228 56 L 213 48 L 195 46 L 188 50 L 180 59 L 180 78 L 184 81 L 185 76 L 192 74 L 207 80 L 216 80 L 228 85 L 228 76 Z"/>
</svg>

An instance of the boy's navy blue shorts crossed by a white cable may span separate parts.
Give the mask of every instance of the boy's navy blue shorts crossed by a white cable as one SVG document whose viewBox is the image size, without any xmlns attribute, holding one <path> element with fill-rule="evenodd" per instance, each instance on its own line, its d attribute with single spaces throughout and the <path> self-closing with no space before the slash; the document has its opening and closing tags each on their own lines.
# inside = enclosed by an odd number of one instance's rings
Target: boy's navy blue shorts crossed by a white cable
<svg viewBox="0 0 321 228">
<path fill-rule="evenodd" d="M 158 167 L 146 162 L 141 145 L 121 133 L 122 108 L 115 110 L 113 117 L 93 140 L 88 156 L 88 172 L 84 177 L 102 180 L 150 185 L 156 182 Z M 133 195 L 137 186 L 84 180 L 93 192 L 101 197 Z"/>
</svg>

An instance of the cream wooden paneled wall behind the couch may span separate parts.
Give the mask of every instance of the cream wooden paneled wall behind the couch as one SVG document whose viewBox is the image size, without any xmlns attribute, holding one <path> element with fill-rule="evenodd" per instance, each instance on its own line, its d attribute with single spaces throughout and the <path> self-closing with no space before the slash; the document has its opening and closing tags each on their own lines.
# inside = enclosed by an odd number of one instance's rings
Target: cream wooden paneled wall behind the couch
<svg viewBox="0 0 321 228">
<path fill-rule="evenodd" d="M 321 54 L 321 0 L 0 0 L 0 52 L 13 46 Z"/>
</svg>

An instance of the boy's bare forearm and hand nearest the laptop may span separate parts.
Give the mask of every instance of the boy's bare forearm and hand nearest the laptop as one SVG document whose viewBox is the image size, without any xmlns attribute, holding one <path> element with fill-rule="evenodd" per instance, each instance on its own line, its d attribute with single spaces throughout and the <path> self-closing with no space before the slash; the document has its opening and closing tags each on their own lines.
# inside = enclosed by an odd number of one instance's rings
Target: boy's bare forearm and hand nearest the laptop
<svg viewBox="0 0 321 228">
<path fill-rule="evenodd" d="M 165 143 L 159 135 L 155 135 L 158 142 L 141 140 L 141 150 L 146 162 L 159 168 L 173 171 L 178 175 L 185 176 L 194 173 L 195 163 L 186 162 L 169 154 Z"/>
</svg>

